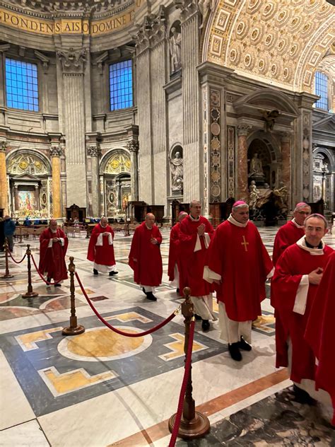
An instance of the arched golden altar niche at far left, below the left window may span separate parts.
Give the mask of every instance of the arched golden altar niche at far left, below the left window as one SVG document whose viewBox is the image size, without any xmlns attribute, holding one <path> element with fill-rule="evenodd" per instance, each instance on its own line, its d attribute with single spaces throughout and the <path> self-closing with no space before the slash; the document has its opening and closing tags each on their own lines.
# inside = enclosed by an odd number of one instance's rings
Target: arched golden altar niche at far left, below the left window
<svg viewBox="0 0 335 447">
<path fill-rule="evenodd" d="M 51 170 L 46 160 L 31 152 L 8 158 L 11 212 L 18 217 L 47 217 L 51 212 Z"/>
</svg>

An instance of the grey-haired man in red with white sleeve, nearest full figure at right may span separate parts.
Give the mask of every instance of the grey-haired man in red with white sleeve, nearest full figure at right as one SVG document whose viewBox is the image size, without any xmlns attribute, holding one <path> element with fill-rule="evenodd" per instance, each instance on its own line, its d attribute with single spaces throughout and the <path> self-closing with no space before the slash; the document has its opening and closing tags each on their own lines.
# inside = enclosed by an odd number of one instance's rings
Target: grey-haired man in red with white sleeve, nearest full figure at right
<svg viewBox="0 0 335 447">
<path fill-rule="evenodd" d="M 310 402 L 315 379 L 315 354 L 304 339 L 306 323 L 333 252 L 322 240 L 326 233 L 324 216 L 307 216 L 305 236 L 286 248 L 271 281 L 271 304 L 283 324 L 283 331 L 276 332 L 276 367 L 289 367 L 295 393 L 304 402 Z"/>
</svg>

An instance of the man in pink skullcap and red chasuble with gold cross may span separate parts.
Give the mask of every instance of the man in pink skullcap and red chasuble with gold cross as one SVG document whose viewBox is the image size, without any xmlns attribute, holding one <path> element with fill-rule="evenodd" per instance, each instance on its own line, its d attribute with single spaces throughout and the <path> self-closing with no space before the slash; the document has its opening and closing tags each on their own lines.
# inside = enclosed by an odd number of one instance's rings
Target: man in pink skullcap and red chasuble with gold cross
<svg viewBox="0 0 335 447">
<path fill-rule="evenodd" d="M 216 283 L 221 339 L 236 361 L 242 360 L 240 349 L 252 349 L 252 320 L 261 315 L 265 281 L 272 271 L 261 236 L 249 221 L 249 206 L 239 200 L 216 228 L 204 269 L 204 278 Z"/>
</svg>

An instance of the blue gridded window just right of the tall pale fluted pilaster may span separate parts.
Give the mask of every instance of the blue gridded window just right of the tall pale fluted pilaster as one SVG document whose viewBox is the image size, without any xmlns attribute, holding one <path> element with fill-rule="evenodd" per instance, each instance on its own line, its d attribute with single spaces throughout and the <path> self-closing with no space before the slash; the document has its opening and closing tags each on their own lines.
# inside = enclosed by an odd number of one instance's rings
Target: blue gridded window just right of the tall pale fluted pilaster
<svg viewBox="0 0 335 447">
<path fill-rule="evenodd" d="M 133 107 L 131 60 L 110 65 L 110 110 Z"/>
</svg>

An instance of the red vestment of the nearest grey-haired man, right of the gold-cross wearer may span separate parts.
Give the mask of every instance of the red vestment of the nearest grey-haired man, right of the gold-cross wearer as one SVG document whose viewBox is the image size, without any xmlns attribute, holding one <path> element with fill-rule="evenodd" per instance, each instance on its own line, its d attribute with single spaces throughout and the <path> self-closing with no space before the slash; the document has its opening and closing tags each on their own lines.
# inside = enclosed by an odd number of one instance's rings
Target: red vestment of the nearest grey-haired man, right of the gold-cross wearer
<svg viewBox="0 0 335 447">
<path fill-rule="evenodd" d="M 286 248 L 276 264 L 271 281 L 271 304 L 281 320 L 276 330 L 276 367 L 288 366 L 288 337 L 292 342 L 292 371 L 290 378 L 300 383 L 302 378 L 315 379 L 315 355 L 304 339 L 310 308 L 317 293 L 315 284 L 309 284 L 304 315 L 293 312 L 295 297 L 302 275 L 318 267 L 324 268 L 333 250 L 327 245 L 323 255 L 311 255 L 296 243 Z"/>
</svg>

